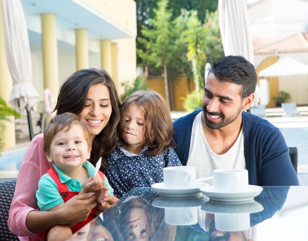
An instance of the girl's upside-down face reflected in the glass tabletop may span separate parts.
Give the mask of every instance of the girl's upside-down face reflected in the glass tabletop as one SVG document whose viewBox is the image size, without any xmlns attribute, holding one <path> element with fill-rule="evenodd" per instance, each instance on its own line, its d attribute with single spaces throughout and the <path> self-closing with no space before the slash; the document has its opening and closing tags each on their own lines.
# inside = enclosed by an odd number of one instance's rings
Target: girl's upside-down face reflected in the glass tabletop
<svg viewBox="0 0 308 241">
<path fill-rule="evenodd" d="M 127 229 L 129 241 L 148 241 L 149 233 L 146 225 L 147 213 L 142 208 L 131 209 L 127 217 Z"/>
</svg>

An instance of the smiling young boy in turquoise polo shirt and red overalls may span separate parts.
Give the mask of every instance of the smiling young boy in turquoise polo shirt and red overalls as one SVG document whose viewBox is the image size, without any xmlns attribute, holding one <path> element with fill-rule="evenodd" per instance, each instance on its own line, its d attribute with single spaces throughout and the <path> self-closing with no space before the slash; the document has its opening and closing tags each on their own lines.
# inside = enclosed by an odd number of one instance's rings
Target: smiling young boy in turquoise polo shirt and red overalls
<svg viewBox="0 0 308 241">
<path fill-rule="evenodd" d="M 86 161 L 90 158 L 90 150 L 88 127 L 78 115 L 63 113 L 51 119 L 44 130 L 44 152 L 52 168 L 40 178 L 36 191 L 41 211 L 59 209 L 78 194 L 97 192 L 97 202 L 100 204 L 104 204 L 108 195 L 113 194 L 102 172 L 94 177 L 95 168 Z M 44 234 L 44 240 L 66 240 L 90 222 L 97 215 L 95 211 L 96 208 L 84 222 L 54 226 Z"/>
</svg>

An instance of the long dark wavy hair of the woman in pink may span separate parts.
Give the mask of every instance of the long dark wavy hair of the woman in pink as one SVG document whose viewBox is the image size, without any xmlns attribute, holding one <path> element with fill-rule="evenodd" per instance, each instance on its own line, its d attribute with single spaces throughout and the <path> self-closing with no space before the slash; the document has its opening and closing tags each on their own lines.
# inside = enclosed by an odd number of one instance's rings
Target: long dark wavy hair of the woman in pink
<svg viewBox="0 0 308 241">
<path fill-rule="evenodd" d="M 102 157 L 102 169 L 105 170 L 108 163 L 104 156 L 110 154 L 118 145 L 117 125 L 120 121 L 120 100 L 109 74 L 103 69 L 94 68 L 73 73 L 61 86 L 54 111 L 56 110 L 57 115 L 65 112 L 80 114 L 86 105 L 90 87 L 97 84 L 108 88 L 112 112 L 109 122 L 92 142 L 89 161 L 95 165 Z"/>
</svg>

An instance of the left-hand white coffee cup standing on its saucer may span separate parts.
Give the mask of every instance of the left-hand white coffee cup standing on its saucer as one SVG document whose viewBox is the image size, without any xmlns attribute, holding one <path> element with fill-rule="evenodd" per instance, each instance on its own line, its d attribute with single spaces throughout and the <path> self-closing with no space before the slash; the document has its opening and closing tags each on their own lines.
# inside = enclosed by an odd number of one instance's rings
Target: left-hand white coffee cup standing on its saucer
<svg viewBox="0 0 308 241">
<path fill-rule="evenodd" d="M 197 186 L 196 168 L 192 166 L 166 167 L 163 175 L 166 188 L 185 189 Z"/>
</svg>

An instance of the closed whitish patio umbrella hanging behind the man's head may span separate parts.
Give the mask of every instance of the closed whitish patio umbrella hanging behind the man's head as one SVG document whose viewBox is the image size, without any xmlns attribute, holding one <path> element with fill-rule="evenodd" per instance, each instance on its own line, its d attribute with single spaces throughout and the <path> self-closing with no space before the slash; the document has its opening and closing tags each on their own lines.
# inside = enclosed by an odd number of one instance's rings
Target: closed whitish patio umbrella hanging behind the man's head
<svg viewBox="0 0 308 241">
<path fill-rule="evenodd" d="M 218 13 L 225 55 L 242 55 L 254 64 L 254 48 L 249 32 L 246 0 L 219 0 Z M 260 92 L 257 85 L 252 106 L 258 104 Z"/>
</svg>

